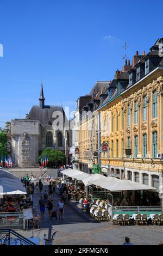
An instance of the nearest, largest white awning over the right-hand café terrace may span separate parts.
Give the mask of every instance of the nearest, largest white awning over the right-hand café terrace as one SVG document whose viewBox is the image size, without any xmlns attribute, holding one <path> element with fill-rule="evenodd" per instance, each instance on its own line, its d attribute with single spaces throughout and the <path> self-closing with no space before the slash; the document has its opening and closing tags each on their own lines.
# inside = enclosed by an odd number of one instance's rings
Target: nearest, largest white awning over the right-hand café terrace
<svg viewBox="0 0 163 256">
<path fill-rule="evenodd" d="M 147 186 L 139 182 L 119 180 L 114 177 L 104 177 L 103 179 L 93 181 L 92 184 L 109 191 L 156 190 L 155 187 Z"/>
</svg>

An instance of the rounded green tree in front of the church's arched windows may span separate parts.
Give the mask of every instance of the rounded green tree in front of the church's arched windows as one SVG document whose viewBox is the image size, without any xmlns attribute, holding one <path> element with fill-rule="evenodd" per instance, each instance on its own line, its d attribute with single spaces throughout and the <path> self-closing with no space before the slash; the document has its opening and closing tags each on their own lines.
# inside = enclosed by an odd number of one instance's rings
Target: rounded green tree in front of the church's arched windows
<svg viewBox="0 0 163 256">
<path fill-rule="evenodd" d="M 58 164 L 65 164 L 66 163 L 66 157 L 65 153 L 61 150 L 55 150 L 55 149 L 45 149 L 42 151 L 41 155 L 39 156 L 39 161 L 41 163 L 41 157 L 48 157 L 48 166 L 53 167 Z"/>
</svg>

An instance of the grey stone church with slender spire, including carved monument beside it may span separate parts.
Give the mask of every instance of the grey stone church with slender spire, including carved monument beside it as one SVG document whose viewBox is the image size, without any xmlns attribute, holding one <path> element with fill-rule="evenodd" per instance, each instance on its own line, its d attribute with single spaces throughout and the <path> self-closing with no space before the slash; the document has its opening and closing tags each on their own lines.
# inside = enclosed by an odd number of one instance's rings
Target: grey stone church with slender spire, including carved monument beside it
<svg viewBox="0 0 163 256">
<path fill-rule="evenodd" d="M 62 125 L 59 120 L 62 120 Z M 64 151 L 69 164 L 71 144 L 72 131 L 64 109 L 62 106 L 45 105 L 41 84 L 39 105 L 33 106 L 25 119 L 11 120 L 13 166 L 39 166 L 39 155 L 46 148 Z"/>
</svg>

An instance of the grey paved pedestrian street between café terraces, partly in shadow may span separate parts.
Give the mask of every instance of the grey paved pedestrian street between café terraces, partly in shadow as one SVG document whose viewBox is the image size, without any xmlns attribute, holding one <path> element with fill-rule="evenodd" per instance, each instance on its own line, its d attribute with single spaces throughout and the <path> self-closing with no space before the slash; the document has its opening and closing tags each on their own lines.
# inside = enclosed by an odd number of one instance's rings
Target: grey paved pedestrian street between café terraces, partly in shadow
<svg viewBox="0 0 163 256">
<path fill-rule="evenodd" d="M 48 191 L 48 183 L 43 181 L 43 192 Z M 37 214 L 40 215 L 38 202 L 40 192 L 34 194 L 33 201 Z M 60 200 L 60 194 L 57 191 L 53 197 L 54 207 Z M 43 237 L 48 237 L 48 228 L 52 226 L 52 234 L 54 231 L 58 233 L 54 236 L 53 245 L 122 245 L 124 237 L 129 236 L 134 245 L 158 245 L 163 241 L 163 225 L 148 226 L 118 226 L 108 222 L 98 223 L 94 221 L 89 214 L 79 209 L 76 203 L 65 206 L 64 220 L 49 220 L 48 211 L 45 211 L 45 217 L 41 220 L 40 229 L 19 231 L 25 237 L 39 237 L 40 245 L 43 245 Z"/>
</svg>

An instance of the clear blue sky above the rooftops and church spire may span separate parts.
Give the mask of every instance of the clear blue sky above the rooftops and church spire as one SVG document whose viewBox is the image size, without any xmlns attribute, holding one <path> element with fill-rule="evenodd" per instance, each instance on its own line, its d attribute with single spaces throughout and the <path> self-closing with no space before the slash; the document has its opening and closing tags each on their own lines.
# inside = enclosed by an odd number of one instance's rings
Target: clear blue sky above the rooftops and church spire
<svg viewBox="0 0 163 256">
<path fill-rule="evenodd" d="M 156 4 L 155 4 L 156 3 Z M 0 121 L 38 104 L 70 106 L 162 32 L 162 1 L 0 0 Z M 3 123 L 0 123 L 3 126 Z"/>
</svg>

